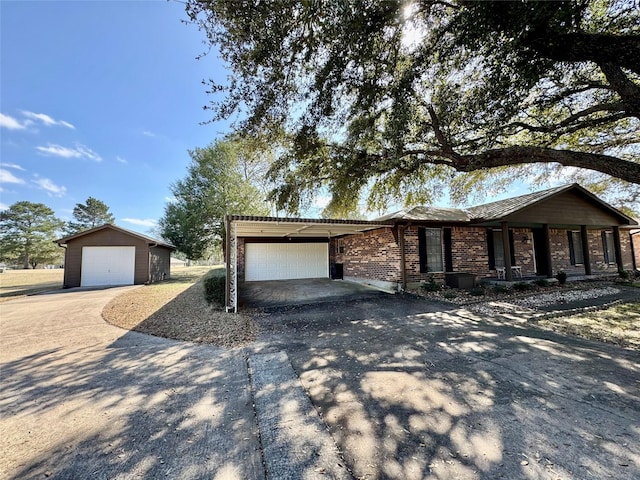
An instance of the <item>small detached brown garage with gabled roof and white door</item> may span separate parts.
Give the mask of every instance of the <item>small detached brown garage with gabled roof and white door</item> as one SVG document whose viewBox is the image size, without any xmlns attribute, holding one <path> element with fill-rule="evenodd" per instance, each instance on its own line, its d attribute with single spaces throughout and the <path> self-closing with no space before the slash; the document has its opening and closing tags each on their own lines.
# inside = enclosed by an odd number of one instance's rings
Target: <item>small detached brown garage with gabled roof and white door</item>
<svg viewBox="0 0 640 480">
<path fill-rule="evenodd" d="M 66 248 L 64 288 L 139 285 L 171 275 L 173 245 L 115 225 L 56 240 Z"/>
</svg>

